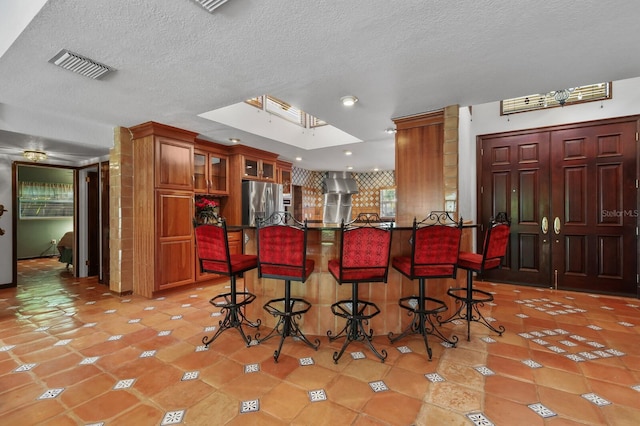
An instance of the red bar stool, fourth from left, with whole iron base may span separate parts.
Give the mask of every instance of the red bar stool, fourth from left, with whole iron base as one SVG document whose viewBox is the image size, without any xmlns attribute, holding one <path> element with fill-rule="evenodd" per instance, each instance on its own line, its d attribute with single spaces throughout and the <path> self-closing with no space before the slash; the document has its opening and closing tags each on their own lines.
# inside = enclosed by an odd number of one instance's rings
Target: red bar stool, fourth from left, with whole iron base
<svg viewBox="0 0 640 426">
<path fill-rule="evenodd" d="M 431 361 L 431 347 L 427 335 L 431 334 L 442 341 L 455 346 L 458 337 L 446 338 L 436 327 L 436 315 L 447 310 L 447 305 L 439 299 L 426 296 L 425 281 L 429 278 L 455 278 L 462 235 L 462 219 L 459 222 L 447 212 L 431 212 L 420 222 L 413 219 L 411 238 L 411 256 L 394 257 L 391 265 L 402 275 L 418 280 L 418 296 L 403 297 L 399 300 L 401 308 L 406 309 L 413 320 L 399 335 L 389 333 L 394 343 L 410 334 L 420 334 Z M 436 319 L 437 320 L 437 319 Z"/>
</svg>

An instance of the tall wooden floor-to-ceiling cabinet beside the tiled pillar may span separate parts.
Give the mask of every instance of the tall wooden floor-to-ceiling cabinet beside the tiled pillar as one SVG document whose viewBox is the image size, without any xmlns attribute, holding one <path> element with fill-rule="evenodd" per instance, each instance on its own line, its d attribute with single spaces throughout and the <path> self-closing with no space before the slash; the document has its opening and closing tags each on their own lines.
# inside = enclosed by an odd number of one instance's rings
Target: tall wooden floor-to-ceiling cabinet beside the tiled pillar
<svg viewBox="0 0 640 426">
<path fill-rule="evenodd" d="M 133 292 L 194 281 L 193 149 L 196 133 L 144 123 L 132 136 Z"/>
</svg>

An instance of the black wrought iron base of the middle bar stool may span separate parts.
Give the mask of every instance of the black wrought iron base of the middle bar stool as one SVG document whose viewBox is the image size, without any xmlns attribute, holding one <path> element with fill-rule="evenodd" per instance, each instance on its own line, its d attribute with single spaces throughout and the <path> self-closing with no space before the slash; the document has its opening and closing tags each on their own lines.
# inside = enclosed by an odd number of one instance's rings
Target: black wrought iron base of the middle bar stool
<svg viewBox="0 0 640 426">
<path fill-rule="evenodd" d="M 344 308 L 344 304 L 351 303 L 351 310 L 348 311 Z M 368 307 L 374 307 L 375 311 L 371 314 L 365 314 L 365 310 Z M 378 351 L 371 343 L 373 339 L 373 330 L 370 330 L 369 333 L 366 332 L 364 326 L 369 324 L 369 320 L 380 313 L 378 307 L 371 302 L 364 302 L 358 299 L 358 283 L 352 283 L 351 285 L 351 300 L 341 300 L 337 303 L 331 305 L 331 311 L 334 315 L 340 316 L 342 318 L 346 318 L 347 323 L 345 327 L 340 330 L 338 334 L 335 336 L 331 335 L 331 330 L 327 332 L 327 336 L 329 337 L 329 341 L 333 342 L 336 339 L 341 337 L 345 338 L 344 344 L 340 351 L 335 351 L 333 353 L 333 362 L 338 363 L 338 360 L 347 349 L 347 346 L 354 341 L 364 342 L 371 352 L 374 353 L 380 361 L 384 362 L 387 358 L 387 351 L 382 349 Z"/>
</svg>

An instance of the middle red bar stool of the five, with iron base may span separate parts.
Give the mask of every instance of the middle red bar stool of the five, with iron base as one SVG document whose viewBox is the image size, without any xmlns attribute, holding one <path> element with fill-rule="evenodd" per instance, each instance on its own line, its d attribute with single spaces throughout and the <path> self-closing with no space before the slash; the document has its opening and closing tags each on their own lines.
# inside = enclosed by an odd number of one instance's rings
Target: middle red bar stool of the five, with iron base
<svg viewBox="0 0 640 426">
<path fill-rule="evenodd" d="M 389 255 L 391 252 L 391 230 L 380 223 L 377 214 L 361 214 L 351 223 L 341 224 L 340 258 L 329 260 L 329 272 L 338 284 L 351 284 L 351 299 L 340 300 L 331 305 L 334 315 L 347 320 L 345 327 L 335 336 L 327 331 L 330 341 L 345 338 L 340 351 L 333 354 L 338 360 L 351 342 L 360 341 L 382 361 L 387 352 L 378 351 L 371 340 L 373 330 L 365 330 L 369 320 L 380 313 L 375 303 L 361 300 L 358 296 L 358 284 L 387 282 Z"/>
</svg>

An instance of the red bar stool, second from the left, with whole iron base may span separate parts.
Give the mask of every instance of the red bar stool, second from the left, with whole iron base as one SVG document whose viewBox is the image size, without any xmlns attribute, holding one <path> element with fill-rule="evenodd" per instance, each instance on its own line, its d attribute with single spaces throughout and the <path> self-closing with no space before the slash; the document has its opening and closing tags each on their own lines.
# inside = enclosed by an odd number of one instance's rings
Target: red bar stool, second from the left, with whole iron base
<svg viewBox="0 0 640 426">
<path fill-rule="evenodd" d="M 297 319 L 311 308 L 311 303 L 291 297 L 291 281 L 304 283 L 313 272 L 315 262 L 307 259 L 307 223 L 299 222 L 290 213 L 276 212 L 264 220 L 258 220 L 258 276 L 284 280 L 284 297 L 269 300 L 264 310 L 278 321 L 271 332 L 259 343 L 280 336 L 273 359 L 278 362 L 282 344 L 287 337 L 294 337 L 317 350 L 320 340 L 313 343 L 300 330 Z"/>
</svg>

